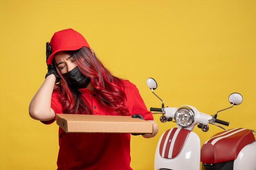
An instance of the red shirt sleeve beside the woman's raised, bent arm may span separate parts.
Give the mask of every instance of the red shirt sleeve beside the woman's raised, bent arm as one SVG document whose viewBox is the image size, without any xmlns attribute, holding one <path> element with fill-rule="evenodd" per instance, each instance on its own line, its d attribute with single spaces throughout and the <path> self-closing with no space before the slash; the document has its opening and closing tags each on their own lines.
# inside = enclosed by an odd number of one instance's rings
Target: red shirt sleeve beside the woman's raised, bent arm
<svg viewBox="0 0 256 170">
<path fill-rule="evenodd" d="M 52 93 L 51 108 L 53 109 L 53 111 L 55 113 L 55 117 L 52 120 L 41 121 L 43 124 L 52 124 L 56 120 L 56 113 L 63 113 L 63 111 L 62 111 L 63 107 L 61 105 L 61 102 L 58 99 L 57 92 Z"/>
</svg>

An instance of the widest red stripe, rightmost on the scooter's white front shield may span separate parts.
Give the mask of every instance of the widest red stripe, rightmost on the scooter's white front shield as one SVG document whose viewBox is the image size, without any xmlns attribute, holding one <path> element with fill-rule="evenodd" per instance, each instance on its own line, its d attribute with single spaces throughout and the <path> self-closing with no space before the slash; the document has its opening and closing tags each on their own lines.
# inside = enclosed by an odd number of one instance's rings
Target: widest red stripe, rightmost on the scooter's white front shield
<svg viewBox="0 0 256 170">
<path fill-rule="evenodd" d="M 180 151 L 183 148 L 184 142 L 186 140 L 186 137 L 189 135 L 191 131 L 187 130 L 187 129 L 181 129 L 179 134 L 177 135 L 176 139 L 175 139 L 175 143 L 173 146 L 173 154 L 172 154 L 172 158 L 175 158 L 177 155 L 179 155 Z"/>
</svg>

